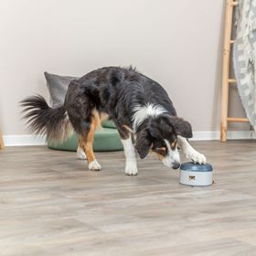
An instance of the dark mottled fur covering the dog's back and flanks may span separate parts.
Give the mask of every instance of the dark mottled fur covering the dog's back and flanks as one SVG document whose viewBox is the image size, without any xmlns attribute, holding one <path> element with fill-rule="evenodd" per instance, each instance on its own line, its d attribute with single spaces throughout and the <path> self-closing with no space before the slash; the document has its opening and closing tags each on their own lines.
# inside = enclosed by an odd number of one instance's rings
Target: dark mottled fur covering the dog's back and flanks
<svg viewBox="0 0 256 256">
<path fill-rule="evenodd" d="M 132 67 L 105 67 L 71 81 L 64 105 L 75 131 L 80 131 L 80 123 L 91 122 L 93 108 L 106 112 L 120 131 L 123 124 L 133 127 L 134 108 L 148 103 L 161 104 L 176 116 L 173 102 L 155 80 Z"/>
</svg>

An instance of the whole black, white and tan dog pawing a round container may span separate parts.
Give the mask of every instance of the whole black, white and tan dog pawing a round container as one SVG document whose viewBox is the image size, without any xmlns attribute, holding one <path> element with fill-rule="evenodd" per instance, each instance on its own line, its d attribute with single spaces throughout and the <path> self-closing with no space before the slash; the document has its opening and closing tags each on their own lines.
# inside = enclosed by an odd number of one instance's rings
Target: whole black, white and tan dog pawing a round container
<svg viewBox="0 0 256 256">
<path fill-rule="evenodd" d="M 135 149 L 141 158 L 155 152 L 164 165 L 174 169 L 180 166 L 178 147 L 192 161 L 206 163 L 206 157 L 188 144 L 191 125 L 176 116 L 166 91 L 133 68 L 102 68 L 72 80 L 64 105 L 57 109 L 38 95 L 21 104 L 32 131 L 46 134 L 48 141 L 63 141 L 75 130 L 79 134 L 78 155 L 87 158 L 90 170 L 101 170 L 92 142 L 106 118 L 112 119 L 120 133 L 126 175 L 138 174 Z"/>
</svg>

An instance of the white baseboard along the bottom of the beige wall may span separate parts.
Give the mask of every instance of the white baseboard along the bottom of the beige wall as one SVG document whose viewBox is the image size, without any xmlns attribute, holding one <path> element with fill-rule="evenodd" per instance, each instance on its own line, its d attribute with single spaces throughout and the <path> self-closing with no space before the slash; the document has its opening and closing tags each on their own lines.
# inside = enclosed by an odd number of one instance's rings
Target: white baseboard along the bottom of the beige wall
<svg viewBox="0 0 256 256">
<path fill-rule="evenodd" d="M 216 141 L 219 140 L 219 131 L 194 132 L 191 141 Z M 256 139 L 253 131 L 229 131 L 228 140 Z M 4 135 L 5 146 L 45 145 L 45 137 L 37 135 Z"/>
</svg>

